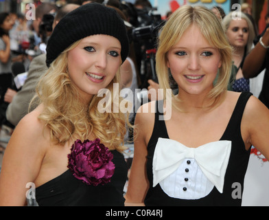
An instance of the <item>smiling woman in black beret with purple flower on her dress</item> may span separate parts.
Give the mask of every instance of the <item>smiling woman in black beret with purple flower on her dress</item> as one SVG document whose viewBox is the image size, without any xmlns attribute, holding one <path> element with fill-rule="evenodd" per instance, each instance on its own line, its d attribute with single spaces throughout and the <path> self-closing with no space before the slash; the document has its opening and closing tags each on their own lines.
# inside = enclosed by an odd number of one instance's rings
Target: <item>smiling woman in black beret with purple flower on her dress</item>
<svg viewBox="0 0 269 220">
<path fill-rule="evenodd" d="M 40 104 L 16 126 L 5 151 L 1 206 L 23 206 L 30 186 L 39 206 L 124 205 L 128 115 L 101 113 L 97 93 L 113 92 L 127 55 L 115 10 L 89 3 L 60 20 L 47 44 Z"/>
</svg>

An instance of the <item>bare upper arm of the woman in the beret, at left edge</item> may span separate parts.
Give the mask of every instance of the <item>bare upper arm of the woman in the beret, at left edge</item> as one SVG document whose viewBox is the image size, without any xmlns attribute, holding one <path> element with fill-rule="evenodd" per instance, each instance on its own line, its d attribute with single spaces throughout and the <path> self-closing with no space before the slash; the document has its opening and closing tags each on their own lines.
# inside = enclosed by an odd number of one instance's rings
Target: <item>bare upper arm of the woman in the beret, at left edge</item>
<svg viewBox="0 0 269 220">
<path fill-rule="evenodd" d="M 0 206 L 25 205 L 27 184 L 34 183 L 45 154 L 40 131 L 34 114 L 26 115 L 16 126 L 3 157 Z"/>
</svg>

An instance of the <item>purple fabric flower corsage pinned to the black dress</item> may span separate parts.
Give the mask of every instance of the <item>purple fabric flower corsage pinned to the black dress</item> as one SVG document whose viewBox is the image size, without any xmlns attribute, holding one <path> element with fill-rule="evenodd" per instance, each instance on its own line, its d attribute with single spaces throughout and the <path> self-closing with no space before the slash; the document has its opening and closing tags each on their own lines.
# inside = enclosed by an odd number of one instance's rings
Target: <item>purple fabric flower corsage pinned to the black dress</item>
<svg viewBox="0 0 269 220">
<path fill-rule="evenodd" d="M 99 139 L 76 140 L 68 155 L 68 168 L 73 176 L 85 184 L 97 186 L 108 184 L 115 171 L 113 153 Z"/>
</svg>

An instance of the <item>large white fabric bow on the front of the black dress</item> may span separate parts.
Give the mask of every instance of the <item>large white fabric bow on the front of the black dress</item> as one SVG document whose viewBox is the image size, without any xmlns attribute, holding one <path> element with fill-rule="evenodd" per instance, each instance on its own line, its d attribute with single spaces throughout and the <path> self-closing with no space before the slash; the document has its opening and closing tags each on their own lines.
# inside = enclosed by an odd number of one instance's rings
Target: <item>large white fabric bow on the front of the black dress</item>
<svg viewBox="0 0 269 220">
<path fill-rule="evenodd" d="M 193 158 L 202 173 L 222 193 L 230 154 L 231 141 L 227 140 L 189 148 L 175 140 L 159 137 L 152 164 L 153 187 L 174 173 L 184 159 Z"/>
</svg>

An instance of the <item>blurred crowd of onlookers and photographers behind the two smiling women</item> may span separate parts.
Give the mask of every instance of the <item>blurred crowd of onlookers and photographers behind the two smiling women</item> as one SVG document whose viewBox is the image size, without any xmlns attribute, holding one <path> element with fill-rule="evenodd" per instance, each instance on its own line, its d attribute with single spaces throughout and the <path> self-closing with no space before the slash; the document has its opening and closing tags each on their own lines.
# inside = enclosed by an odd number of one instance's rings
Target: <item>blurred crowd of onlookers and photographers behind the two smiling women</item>
<svg viewBox="0 0 269 220">
<path fill-rule="evenodd" d="M 70 0 L 68 5 L 79 7 L 85 3 L 104 3 L 103 0 L 83 1 Z M 165 23 L 161 17 L 152 14 L 152 5 L 149 1 L 137 0 L 134 4 L 119 0 L 105 1 L 108 7 L 115 8 L 126 24 L 130 41 L 130 53 L 124 65 L 121 67 L 121 88 L 131 89 L 158 89 L 158 79 L 155 77 L 154 55 L 156 54 L 156 37 L 159 27 Z M 63 8 L 65 6 L 61 6 Z M 245 74 L 245 63 L 248 54 L 252 52 L 259 42 L 261 35 L 257 30 L 251 8 L 242 5 L 242 20 L 233 20 L 232 13 L 225 14 L 220 7 L 212 8 L 212 11 L 222 21 L 226 36 L 233 47 L 233 68 L 228 90 L 250 91 L 257 98 L 261 91 L 269 87 L 266 80 L 268 71 L 268 50 L 264 56 L 262 65 L 257 67 L 255 74 Z M 64 14 L 58 14 L 60 8 L 54 3 L 42 3 L 36 8 L 36 20 L 28 21 L 25 14 L 11 12 L 0 13 L 0 129 L 8 126 L 14 129 L 21 118 L 29 111 L 30 100 L 34 96 L 34 89 L 40 76 L 45 73 L 46 45 L 49 36 L 57 22 Z M 169 14 L 165 19 L 169 19 Z M 264 18 L 269 24 L 269 14 Z M 146 31 L 146 36 L 135 34 L 139 28 Z M 140 34 L 140 33 L 139 33 Z M 266 44 L 266 43 L 265 43 Z M 266 45 L 265 45 L 266 46 Z M 26 74 L 25 74 L 26 73 Z M 22 80 L 22 83 L 21 83 Z M 176 92 L 176 88 L 175 88 Z M 134 94 L 134 102 L 142 104 L 140 97 Z M 262 97 L 262 101 L 269 108 L 268 96 Z M 160 97 L 158 97 L 160 98 Z M 134 104 L 136 105 L 136 104 Z M 134 122 L 135 113 L 130 115 L 130 122 Z M 12 130 L 11 130 L 12 131 Z M 131 139 L 131 133 L 126 140 Z M 1 147 L 1 146 L 0 146 Z M 4 151 L 4 148 L 0 148 Z"/>
</svg>

